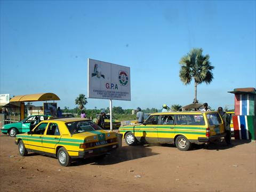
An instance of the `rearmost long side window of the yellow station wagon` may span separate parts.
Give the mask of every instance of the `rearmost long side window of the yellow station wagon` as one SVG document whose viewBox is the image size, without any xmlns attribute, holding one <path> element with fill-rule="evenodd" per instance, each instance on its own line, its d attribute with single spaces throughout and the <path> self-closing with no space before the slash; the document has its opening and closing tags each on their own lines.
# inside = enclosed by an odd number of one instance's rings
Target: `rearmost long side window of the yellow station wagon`
<svg viewBox="0 0 256 192">
<path fill-rule="evenodd" d="M 175 115 L 176 125 L 205 125 L 203 115 Z"/>
</svg>

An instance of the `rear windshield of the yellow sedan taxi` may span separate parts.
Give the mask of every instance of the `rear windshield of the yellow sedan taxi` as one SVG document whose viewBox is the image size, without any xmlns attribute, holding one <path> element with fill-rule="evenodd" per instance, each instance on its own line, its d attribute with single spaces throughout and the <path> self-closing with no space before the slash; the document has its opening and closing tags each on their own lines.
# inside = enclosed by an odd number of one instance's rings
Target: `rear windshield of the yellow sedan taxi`
<svg viewBox="0 0 256 192">
<path fill-rule="evenodd" d="M 101 128 L 92 121 L 68 122 L 66 125 L 71 134 L 101 130 Z"/>
</svg>

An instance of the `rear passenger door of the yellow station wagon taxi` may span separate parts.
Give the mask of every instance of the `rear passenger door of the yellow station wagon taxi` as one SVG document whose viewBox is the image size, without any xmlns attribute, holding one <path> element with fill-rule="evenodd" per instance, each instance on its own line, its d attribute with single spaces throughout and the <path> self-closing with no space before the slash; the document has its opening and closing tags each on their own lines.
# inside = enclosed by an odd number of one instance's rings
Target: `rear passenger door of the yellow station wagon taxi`
<svg viewBox="0 0 256 192">
<path fill-rule="evenodd" d="M 174 115 L 161 115 L 157 127 L 159 142 L 173 142 L 174 138 Z"/>
</svg>

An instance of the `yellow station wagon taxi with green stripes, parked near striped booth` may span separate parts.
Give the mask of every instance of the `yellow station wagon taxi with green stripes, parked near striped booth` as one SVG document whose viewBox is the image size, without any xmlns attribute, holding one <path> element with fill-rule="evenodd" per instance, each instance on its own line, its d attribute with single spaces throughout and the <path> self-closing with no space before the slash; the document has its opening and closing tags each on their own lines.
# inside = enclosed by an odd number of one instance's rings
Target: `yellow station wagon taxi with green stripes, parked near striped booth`
<svg viewBox="0 0 256 192">
<path fill-rule="evenodd" d="M 180 150 L 189 150 L 191 143 L 202 144 L 226 136 L 218 111 L 155 113 L 145 123 L 120 127 L 119 132 L 127 145 L 175 143 Z"/>
</svg>

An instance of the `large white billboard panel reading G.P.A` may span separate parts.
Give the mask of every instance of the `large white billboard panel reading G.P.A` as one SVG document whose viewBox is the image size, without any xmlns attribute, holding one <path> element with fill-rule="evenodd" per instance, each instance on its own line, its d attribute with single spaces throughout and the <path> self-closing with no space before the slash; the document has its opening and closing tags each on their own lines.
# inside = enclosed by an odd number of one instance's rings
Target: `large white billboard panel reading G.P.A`
<svg viewBox="0 0 256 192">
<path fill-rule="evenodd" d="M 88 59 L 88 98 L 131 101 L 130 67 Z"/>
</svg>

